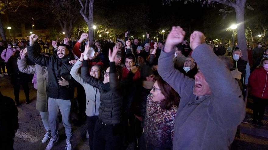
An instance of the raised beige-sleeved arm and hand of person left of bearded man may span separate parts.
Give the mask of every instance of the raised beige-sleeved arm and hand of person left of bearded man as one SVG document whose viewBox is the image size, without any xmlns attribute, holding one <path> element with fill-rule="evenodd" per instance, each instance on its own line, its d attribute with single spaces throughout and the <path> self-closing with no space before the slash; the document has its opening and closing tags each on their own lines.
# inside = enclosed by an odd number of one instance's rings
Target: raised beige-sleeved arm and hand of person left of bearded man
<svg viewBox="0 0 268 150">
<path fill-rule="evenodd" d="M 18 68 L 20 72 L 34 74 L 36 73 L 35 65 L 27 65 L 25 55 L 23 51 L 19 53 L 20 57 L 18 57 Z"/>
</svg>

